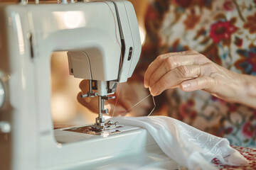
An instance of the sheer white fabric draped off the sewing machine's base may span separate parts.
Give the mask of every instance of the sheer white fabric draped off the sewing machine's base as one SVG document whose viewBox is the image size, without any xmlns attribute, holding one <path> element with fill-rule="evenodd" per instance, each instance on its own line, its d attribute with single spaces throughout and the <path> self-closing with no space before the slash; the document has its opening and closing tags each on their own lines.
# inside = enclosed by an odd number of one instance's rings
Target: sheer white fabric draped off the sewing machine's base
<svg viewBox="0 0 256 170">
<path fill-rule="evenodd" d="M 188 169 L 215 169 L 210 164 L 214 158 L 232 166 L 248 164 L 240 152 L 230 147 L 227 139 L 210 135 L 174 118 L 114 117 L 110 120 L 148 130 L 167 156 Z"/>
</svg>

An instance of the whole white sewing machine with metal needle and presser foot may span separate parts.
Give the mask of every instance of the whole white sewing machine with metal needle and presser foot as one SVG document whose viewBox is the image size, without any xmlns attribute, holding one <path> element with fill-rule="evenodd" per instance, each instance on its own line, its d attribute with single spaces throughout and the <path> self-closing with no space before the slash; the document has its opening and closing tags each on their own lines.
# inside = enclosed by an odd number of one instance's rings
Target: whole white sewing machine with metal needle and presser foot
<svg viewBox="0 0 256 170">
<path fill-rule="evenodd" d="M 0 23 L 0 169 L 170 168 L 146 130 L 102 118 L 104 101 L 132 76 L 141 52 L 129 1 L 1 4 Z M 56 51 L 68 51 L 70 74 L 89 80 L 81 97 L 99 98 L 90 126 L 53 130 L 50 55 Z"/>
</svg>

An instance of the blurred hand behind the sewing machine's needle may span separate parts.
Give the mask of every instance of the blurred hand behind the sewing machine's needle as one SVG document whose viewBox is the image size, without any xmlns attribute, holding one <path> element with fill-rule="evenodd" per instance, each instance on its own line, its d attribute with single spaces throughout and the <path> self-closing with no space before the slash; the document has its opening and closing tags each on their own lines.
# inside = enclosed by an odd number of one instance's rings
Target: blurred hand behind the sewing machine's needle
<svg viewBox="0 0 256 170">
<path fill-rule="evenodd" d="M 88 108 L 92 113 L 98 113 L 98 98 L 81 98 L 81 94 L 86 94 L 89 90 L 88 81 L 82 80 L 79 84 L 82 92 L 77 96 L 78 102 Z M 132 108 L 143 97 L 149 95 L 143 84 L 130 82 L 125 84 L 117 84 L 117 90 L 114 94 L 115 98 L 105 101 L 105 108 L 109 110 L 110 116 L 128 115 L 139 116 L 146 115 L 146 111 L 151 108 L 151 98 L 147 98 L 138 106 Z M 132 109 L 130 109 L 132 108 Z M 129 110 L 129 111 L 128 111 Z"/>
</svg>

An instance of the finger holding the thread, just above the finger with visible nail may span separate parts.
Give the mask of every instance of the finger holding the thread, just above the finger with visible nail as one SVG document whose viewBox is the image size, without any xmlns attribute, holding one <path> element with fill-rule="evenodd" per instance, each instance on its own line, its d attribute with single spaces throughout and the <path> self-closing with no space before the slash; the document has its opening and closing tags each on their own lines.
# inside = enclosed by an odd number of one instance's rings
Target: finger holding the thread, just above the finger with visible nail
<svg viewBox="0 0 256 170">
<path fill-rule="evenodd" d="M 203 71 L 201 65 L 190 65 L 176 67 L 176 69 L 164 74 L 159 81 L 150 87 L 153 96 L 161 94 L 166 89 L 173 89 L 179 86 L 183 81 L 200 77 Z"/>
</svg>

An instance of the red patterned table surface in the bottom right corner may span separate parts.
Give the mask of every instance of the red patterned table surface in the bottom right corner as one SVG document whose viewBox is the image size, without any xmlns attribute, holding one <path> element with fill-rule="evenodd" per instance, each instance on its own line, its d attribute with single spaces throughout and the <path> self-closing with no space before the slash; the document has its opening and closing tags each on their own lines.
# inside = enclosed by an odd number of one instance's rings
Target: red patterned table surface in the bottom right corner
<svg viewBox="0 0 256 170">
<path fill-rule="evenodd" d="M 232 146 L 234 149 L 237 149 L 248 161 L 248 166 L 227 166 L 222 165 L 218 161 L 218 159 L 213 159 L 213 163 L 217 165 L 217 167 L 221 170 L 251 170 L 256 169 L 256 148 L 248 148 L 248 147 L 237 147 Z"/>
</svg>

